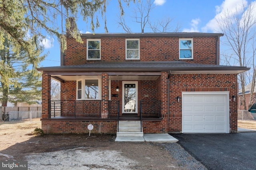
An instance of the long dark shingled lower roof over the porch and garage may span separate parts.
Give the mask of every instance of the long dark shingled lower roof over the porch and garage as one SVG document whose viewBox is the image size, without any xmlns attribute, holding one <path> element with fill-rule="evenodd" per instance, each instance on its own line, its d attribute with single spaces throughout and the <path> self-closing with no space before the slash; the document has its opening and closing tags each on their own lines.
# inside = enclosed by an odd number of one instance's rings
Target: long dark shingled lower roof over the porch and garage
<svg viewBox="0 0 256 170">
<path fill-rule="evenodd" d="M 196 64 L 184 61 L 98 61 L 90 64 L 51 66 L 38 68 L 47 74 L 65 75 L 67 72 L 156 72 L 169 71 L 170 74 L 220 73 L 238 74 L 250 70 L 242 66 L 222 66 L 216 64 Z"/>
</svg>

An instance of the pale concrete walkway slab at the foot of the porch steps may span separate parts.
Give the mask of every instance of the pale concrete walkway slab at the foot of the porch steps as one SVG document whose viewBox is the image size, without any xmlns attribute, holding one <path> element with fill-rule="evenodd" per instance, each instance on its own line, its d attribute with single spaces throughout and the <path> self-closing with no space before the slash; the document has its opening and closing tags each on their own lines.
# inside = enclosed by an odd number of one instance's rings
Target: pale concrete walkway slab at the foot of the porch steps
<svg viewBox="0 0 256 170">
<path fill-rule="evenodd" d="M 175 143 L 178 139 L 168 133 L 144 133 L 143 137 L 116 137 L 115 142 Z"/>
</svg>

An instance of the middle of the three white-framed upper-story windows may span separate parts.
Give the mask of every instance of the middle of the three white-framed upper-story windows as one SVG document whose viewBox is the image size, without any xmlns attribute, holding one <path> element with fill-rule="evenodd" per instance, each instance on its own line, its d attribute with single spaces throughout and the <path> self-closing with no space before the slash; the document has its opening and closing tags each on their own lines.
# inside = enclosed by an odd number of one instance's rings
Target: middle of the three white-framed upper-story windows
<svg viewBox="0 0 256 170">
<path fill-rule="evenodd" d="M 126 59 L 138 60 L 140 59 L 140 40 L 126 39 Z"/>
</svg>

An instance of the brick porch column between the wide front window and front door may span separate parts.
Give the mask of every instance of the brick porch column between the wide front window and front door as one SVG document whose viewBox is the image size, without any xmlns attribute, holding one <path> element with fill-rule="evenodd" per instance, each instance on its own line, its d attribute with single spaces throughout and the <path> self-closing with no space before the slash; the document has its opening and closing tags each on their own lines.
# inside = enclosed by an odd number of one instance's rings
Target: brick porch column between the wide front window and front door
<svg viewBox="0 0 256 170">
<path fill-rule="evenodd" d="M 101 118 L 108 118 L 108 74 L 101 74 Z"/>
</svg>

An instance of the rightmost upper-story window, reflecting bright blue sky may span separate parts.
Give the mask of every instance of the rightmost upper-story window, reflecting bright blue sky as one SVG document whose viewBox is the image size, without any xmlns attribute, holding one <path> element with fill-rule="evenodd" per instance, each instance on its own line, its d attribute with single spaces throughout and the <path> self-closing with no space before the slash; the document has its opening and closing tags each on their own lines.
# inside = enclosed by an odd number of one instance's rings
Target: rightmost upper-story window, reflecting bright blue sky
<svg viewBox="0 0 256 170">
<path fill-rule="evenodd" d="M 180 39 L 180 59 L 193 59 L 193 39 Z"/>
</svg>

